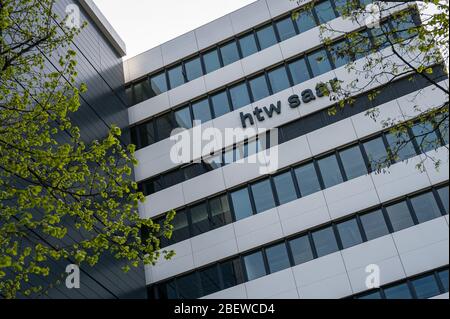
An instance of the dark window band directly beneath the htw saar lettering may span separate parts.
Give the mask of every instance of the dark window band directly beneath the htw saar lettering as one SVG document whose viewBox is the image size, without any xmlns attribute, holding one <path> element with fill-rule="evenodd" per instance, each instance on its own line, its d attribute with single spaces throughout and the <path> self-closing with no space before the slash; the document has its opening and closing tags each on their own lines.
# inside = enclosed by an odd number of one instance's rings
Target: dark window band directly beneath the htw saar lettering
<svg viewBox="0 0 450 319">
<path fill-rule="evenodd" d="M 442 73 L 442 68 L 436 67 L 433 75 Z M 445 74 L 442 74 L 445 77 Z M 437 81 L 439 79 L 436 78 Z M 313 132 L 319 128 L 349 118 L 358 113 L 379 106 L 393 99 L 399 98 L 416 90 L 424 88 L 429 83 L 420 75 L 414 75 L 412 79 L 400 79 L 389 86 L 383 87 L 375 98 L 369 99 L 371 92 L 362 94 L 356 98 L 351 105 L 346 105 L 337 114 L 330 114 L 329 109 L 324 109 L 305 117 L 299 118 L 278 128 L 278 144 Z M 167 172 L 153 176 L 139 183 L 140 190 L 145 196 L 159 192 L 163 189 L 182 183 L 191 178 L 200 176 L 214 169 L 223 167 L 240 159 L 246 158 L 254 153 L 270 147 L 270 138 L 262 138 L 246 141 L 243 144 L 234 145 L 232 148 L 216 152 L 214 156 L 204 158 L 200 163 L 190 163 L 178 166 Z"/>
</svg>

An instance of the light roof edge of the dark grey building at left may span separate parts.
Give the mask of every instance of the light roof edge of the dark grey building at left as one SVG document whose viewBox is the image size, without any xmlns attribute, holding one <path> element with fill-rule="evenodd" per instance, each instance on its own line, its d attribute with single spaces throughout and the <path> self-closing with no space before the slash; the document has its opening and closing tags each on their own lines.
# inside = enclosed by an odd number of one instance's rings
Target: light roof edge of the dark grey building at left
<svg viewBox="0 0 450 319">
<path fill-rule="evenodd" d="M 103 35 L 108 39 L 113 48 L 117 51 L 120 57 L 124 57 L 127 54 L 125 42 L 114 30 L 112 25 L 96 6 L 93 0 L 79 0 L 81 7 L 86 11 L 89 17 L 94 21 L 95 25 L 100 29 Z"/>
</svg>

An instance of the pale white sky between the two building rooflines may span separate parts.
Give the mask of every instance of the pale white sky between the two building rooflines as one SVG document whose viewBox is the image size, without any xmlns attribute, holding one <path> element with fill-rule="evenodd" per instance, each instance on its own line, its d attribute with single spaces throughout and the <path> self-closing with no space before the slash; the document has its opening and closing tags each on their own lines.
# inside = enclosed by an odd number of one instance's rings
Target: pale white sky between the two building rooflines
<svg viewBox="0 0 450 319">
<path fill-rule="evenodd" d="M 130 58 L 255 0 L 94 0 Z"/>
</svg>

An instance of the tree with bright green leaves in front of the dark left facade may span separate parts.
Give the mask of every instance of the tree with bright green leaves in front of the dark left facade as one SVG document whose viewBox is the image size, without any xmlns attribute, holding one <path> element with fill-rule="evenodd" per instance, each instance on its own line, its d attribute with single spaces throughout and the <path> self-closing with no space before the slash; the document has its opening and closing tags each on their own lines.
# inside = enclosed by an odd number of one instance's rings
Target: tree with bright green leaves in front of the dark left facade
<svg viewBox="0 0 450 319">
<path fill-rule="evenodd" d="M 95 265 L 102 254 L 124 271 L 154 264 L 170 237 L 139 217 L 144 200 L 132 179 L 134 146 L 112 126 L 84 141 L 71 116 L 87 88 L 79 84 L 72 41 L 81 30 L 54 13 L 53 0 L 0 0 L 0 294 L 39 296 L 56 284 L 50 261 Z M 49 62 L 56 61 L 56 65 Z M 81 239 L 68 233 L 74 227 Z M 141 230 L 147 236 L 141 238 Z M 55 277 L 55 276 L 52 276 Z"/>
</svg>

